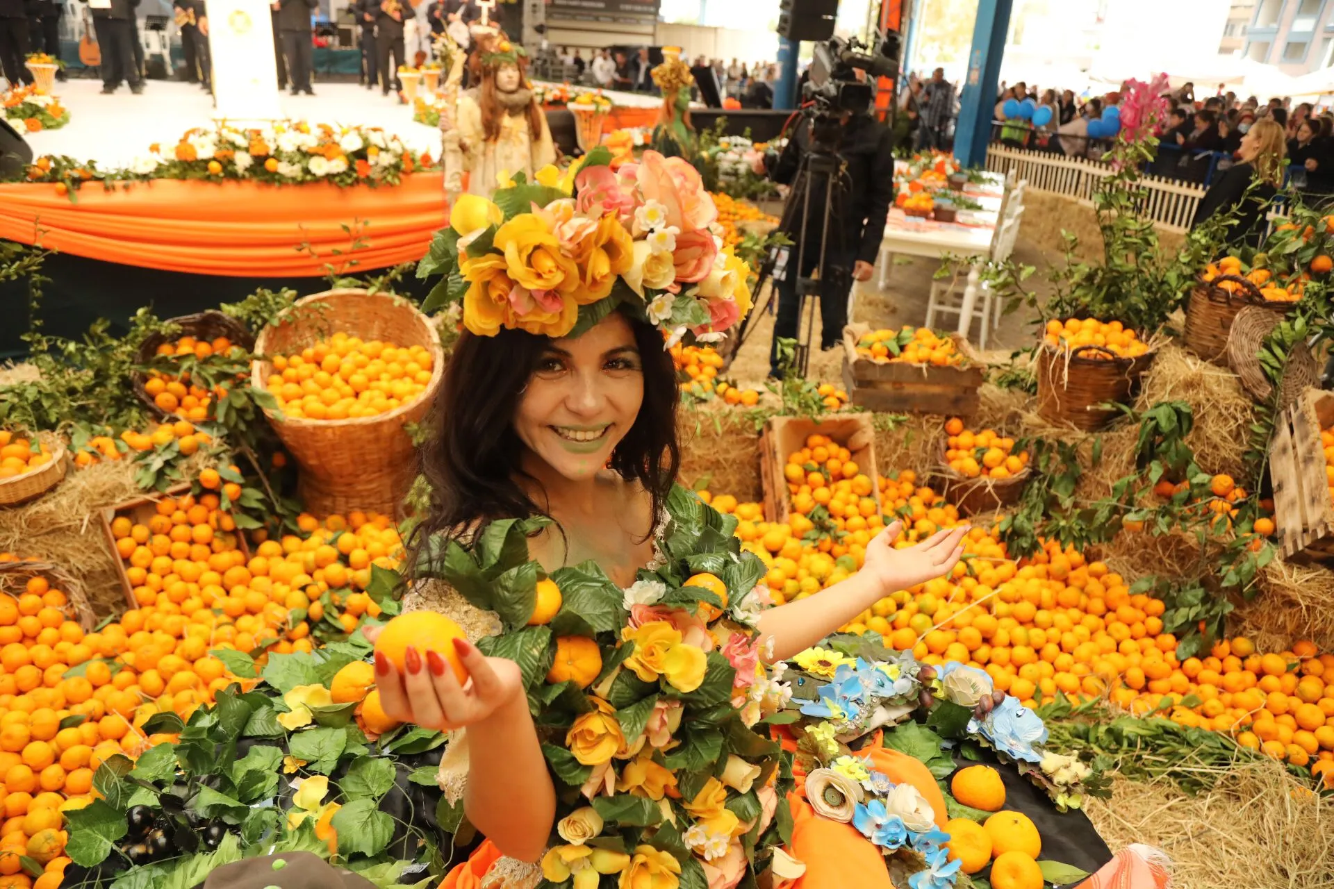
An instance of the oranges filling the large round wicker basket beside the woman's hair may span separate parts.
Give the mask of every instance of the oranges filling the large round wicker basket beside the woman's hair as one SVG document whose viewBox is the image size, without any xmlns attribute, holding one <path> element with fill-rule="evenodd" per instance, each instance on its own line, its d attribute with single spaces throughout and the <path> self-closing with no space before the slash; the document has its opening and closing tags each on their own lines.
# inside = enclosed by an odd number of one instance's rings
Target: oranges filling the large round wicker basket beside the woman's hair
<svg viewBox="0 0 1334 889">
<path fill-rule="evenodd" d="M 420 345 L 363 343 L 339 331 L 299 355 L 273 356 L 267 385 L 291 419 L 374 417 L 420 396 L 434 364 Z"/>
</svg>

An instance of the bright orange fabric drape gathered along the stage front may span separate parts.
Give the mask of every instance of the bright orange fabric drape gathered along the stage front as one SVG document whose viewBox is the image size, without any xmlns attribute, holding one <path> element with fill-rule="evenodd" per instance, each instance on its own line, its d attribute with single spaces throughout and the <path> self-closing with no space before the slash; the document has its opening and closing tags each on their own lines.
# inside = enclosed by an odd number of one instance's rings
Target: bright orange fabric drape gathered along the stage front
<svg viewBox="0 0 1334 889">
<path fill-rule="evenodd" d="M 426 255 L 446 219 L 442 183 L 439 171 L 378 188 L 160 179 L 105 191 L 85 183 L 77 203 L 49 183 L 3 184 L 0 239 L 195 275 L 311 277 L 325 273 L 324 263 L 355 260 L 343 269 L 351 273 Z M 352 251 L 343 225 L 360 231 L 366 247 Z M 299 252 L 303 241 L 320 259 Z"/>
</svg>

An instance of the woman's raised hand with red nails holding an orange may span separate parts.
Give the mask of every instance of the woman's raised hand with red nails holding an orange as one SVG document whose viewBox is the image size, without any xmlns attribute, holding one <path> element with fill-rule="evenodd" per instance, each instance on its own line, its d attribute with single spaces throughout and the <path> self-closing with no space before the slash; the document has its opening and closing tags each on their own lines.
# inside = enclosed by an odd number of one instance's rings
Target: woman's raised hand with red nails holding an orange
<svg viewBox="0 0 1334 889">
<path fill-rule="evenodd" d="M 379 634 L 379 626 L 366 630 L 371 642 Z M 523 698 L 523 674 L 518 664 L 504 657 L 487 657 L 462 638 L 454 640 L 454 650 L 471 677 L 464 685 L 459 685 L 454 669 L 439 652 L 427 652 L 423 657 L 408 646 L 406 674 L 376 652 L 375 685 L 386 716 L 444 732 L 480 722 Z"/>
</svg>

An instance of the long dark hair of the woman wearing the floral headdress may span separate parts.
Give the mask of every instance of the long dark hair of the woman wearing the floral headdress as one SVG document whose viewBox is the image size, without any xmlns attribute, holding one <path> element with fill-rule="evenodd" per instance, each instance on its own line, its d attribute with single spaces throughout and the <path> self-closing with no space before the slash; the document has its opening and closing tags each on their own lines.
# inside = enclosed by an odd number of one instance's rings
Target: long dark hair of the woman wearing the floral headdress
<svg viewBox="0 0 1334 889">
<path fill-rule="evenodd" d="M 662 332 L 647 321 L 624 317 L 639 348 L 644 400 L 611 453 L 611 468 L 644 486 L 656 521 L 680 464 L 680 395 Z M 408 540 L 410 573 L 418 553 L 436 534 L 455 536 L 479 522 L 546 514 L 518 481 L 524 445 L 514 431 L 514 415 L 548 343 L 548 337 L 510 329 L 459 337 L 427 420 L 431 436 L 419 449 L 430 494 L 426 514 Z"/>
</svg>

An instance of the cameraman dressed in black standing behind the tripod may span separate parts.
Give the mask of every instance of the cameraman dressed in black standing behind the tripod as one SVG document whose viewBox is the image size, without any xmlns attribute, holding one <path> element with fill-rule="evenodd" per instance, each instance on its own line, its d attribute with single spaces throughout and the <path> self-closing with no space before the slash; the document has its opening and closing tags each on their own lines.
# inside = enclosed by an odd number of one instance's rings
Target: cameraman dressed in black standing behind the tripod
<svg viewBox="0 0 1334 889">
<path fill-rule="evenodd" d="M 856 72 L 864 79 L 864 72 Z M 820 284 L 820 348 L 830 349 L 843 337 L 847 324 L 847 297 L 852 280 L 868 281 L 880 252 L 880 236 L 894 200 L 894 136 L 870 109 L 863 113 L 850 111 L 830 111 L 838 115 L 838 143 L 840 172 L 835 191 L 835 204 L 830 207 L 830 231 L 824 251 L 824 280 Z M 802 159 L 811 152 L 811 117 L 803 116 L 787 141 L 783 153 L 774 159 L 764 155 L 756 172 L 767 175 L 782 184 L 791 184 L 800 168 Z M 778 319 L 774 321 L 774 344 L 770 348 L 770 373 L 782 376 L 778 365 L 779 339 L 795 340 L 800 313 L 800 297 L 796 293 L 796 279 L 810 277 L 819 263 L 820 229 L 824 207 L 828 203 L 826 176 L 811 175 L 810 219 L 806 223 L 806 256 L 798 269 L 798 243 L 802 229 L 800 207 L 784 228 L 794 244 L 787 249 L 786 268 L 774 272 L 774 288 L 778 292 Z M 794 200 L 790 197 L 788 200 Z"/>
</svg>

